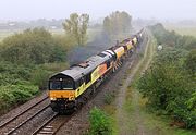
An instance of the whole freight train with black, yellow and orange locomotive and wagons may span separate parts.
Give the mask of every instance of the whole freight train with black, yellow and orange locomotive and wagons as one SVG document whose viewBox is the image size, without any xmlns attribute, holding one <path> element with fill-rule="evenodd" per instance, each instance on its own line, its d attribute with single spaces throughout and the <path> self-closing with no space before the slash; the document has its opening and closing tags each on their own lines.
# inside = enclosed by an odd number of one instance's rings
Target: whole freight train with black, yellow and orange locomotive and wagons
<svg viewBox="0 0 196 135">
<path fill-rule="evenodd" d="M 144 29 L 86 61 L 49 78 L 49 98 L 53 111 L 66 113 L 84 105 L 109 74 L 131 57 L 144 38 Z"/>
</svg>

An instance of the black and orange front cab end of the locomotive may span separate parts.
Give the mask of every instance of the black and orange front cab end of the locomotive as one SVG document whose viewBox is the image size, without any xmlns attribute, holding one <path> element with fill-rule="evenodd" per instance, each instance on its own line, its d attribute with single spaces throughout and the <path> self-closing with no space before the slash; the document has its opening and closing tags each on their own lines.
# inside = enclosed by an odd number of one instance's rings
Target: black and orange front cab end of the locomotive
<svg viewBox="0 0 196 135">
<path fill-rule="evenodd" d="M 49 79 L 49 98 L 53 111 L 74 108 L 74 79 L 64 74 L 57 74 Z"/>
</svg>

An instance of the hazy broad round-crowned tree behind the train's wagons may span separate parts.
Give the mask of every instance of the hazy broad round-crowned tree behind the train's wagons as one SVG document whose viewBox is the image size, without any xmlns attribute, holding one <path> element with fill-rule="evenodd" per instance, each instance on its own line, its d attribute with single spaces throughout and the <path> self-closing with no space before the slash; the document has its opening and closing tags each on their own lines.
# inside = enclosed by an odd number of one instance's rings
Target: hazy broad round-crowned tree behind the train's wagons
<svg viewBox="0 0 196 135">
<path fill-rule="evenodd" d="M 132 16 L 126 12 L 115 11 L 103 20 L 103 33 L 113 39 L 113 36 L 127 35 L 131 32 Z"/>
</svg>

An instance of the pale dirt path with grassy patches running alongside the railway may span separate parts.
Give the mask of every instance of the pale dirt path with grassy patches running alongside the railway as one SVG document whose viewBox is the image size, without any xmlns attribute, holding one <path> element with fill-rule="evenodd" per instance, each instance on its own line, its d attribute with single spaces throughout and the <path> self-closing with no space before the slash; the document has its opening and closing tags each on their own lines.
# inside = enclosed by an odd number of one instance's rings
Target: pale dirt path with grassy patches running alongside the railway
<svg viewBox="0 0 196 135">
<path fill-rule="evenodd" d="M 128 75 L 124 81 L 118 98 L 117 98 L 117 121 L 119 125 L 120 135 L 145 135 L 147 133 L 146 127 L 144 125 L 144 119 L 140 114 L 139 107 L 139 94 L 137 90 L 132 90 L 132 103 L 130 105 L 132 113 L 126 112 L 126 99 L 127 99 L 127 87 L 132 84 L 132 81 L 138 74 L 138 72 L 143 72 L 148 68 L 152 54 L 154 54 L 154 44 L 151 42 L 151 38 L 147 42 L 145 48 L 144 58 L 137 62 L 136 60 L 133 62 L 133 66 L 130 69 Z M 132 116 L 131 116 L 132 115 Z"/>
</svg>

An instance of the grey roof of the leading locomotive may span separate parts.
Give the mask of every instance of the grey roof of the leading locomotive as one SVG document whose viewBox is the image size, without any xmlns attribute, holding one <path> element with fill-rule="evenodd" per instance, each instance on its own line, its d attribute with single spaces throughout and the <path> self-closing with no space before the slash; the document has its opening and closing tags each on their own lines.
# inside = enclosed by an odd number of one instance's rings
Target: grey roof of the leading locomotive
<svg viewBox="0 0 196 135">
<path fill-rule="evenodd" d="M 96 69 L 99 64 L 106 62 L 111 58 L 109 52 L 101 52 L 97 56 L 88 58 L 85 62 L 71 66 L 69 70 L 62 71 L 56 75 L 62 74 L 65 76 L 72 77 L 74 81 L 79 79 L 82 76 L 88 74 L 94 69 Z M 53 76 L 56 76 L 53 75 Z"/>
</svg>

